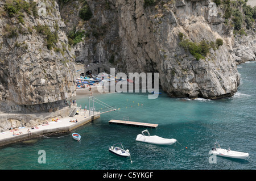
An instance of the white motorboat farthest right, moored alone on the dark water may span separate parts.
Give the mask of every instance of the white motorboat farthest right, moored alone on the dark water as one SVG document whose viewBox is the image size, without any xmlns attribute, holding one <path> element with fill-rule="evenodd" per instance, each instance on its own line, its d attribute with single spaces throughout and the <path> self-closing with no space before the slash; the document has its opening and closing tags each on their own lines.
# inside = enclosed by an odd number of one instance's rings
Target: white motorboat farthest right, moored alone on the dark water
<svg viewBox="0 0 256 181">
<path fill-rule="evenodd" d="M 229 157 L 229 158 L 238 158 L 238 159 L 246 159 L 249 157 L 249 153 L 244 153 L 241 151 L 233 151 L 230 149 L 222 149 L 220 148 L 220 145 L 218 145 L 219 148 L 216 146 L 217 142 L 214 144 L 214 148 L 212 148 L 211 153 L 216 154 L 221 157 Z"/>
</svg>

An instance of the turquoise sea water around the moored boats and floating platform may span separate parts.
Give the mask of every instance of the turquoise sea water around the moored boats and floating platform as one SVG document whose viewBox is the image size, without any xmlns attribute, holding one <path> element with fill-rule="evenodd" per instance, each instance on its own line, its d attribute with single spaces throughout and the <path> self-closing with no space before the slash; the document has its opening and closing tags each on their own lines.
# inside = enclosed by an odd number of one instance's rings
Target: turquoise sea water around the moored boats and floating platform
<svg viewBox="0 0 256 181">
<path fill-rule="evenodd" d="M 0 149 L 0 169 L 160 169 L 160 170 L 254 170 L 256 169 L 256 62 L 238 66 L 241 85 L 232 98 L 221 100 L 169 98 L 148 99 L 148 93 L 94 95 L 116 108 L 100 119 L 76 129 L 80 142 L 68 135 L 40 138 L 32 144 L 14 144 Z M 77 96 L 88 106 L 88 97 Z M 143 106 L 141 105 L 143 104 Z M 95 104 L 96 110 L 102 107 Z M 175 138 L 179 144 L 158 146 L 135 141 L 146 128 L 112 125 L 111 119 L 159 124 L 148 129 L 151 135 Z M 209 150 L 218 141 L 221 148 L 250 154 L 247 160 L 217 157 L 209 163 Z M 117 157 L 108 146 L 122 142 L 131 153 Z M 187 147 L 187 149 L 186 149 Z M 39 150 L 46 151 L 46 163 L 38 163 Z"/>
</svg>

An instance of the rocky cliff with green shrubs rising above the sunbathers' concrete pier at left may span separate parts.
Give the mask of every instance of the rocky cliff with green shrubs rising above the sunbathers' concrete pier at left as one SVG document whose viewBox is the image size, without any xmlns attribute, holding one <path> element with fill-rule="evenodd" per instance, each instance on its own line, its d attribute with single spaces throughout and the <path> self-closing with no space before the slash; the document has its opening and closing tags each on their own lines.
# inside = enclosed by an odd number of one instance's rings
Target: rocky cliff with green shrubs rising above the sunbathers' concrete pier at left
<svg viewBox="0 0 256 181">
<path fill-rule="evenodd" d="M 75 53 L 58 4 L 45 2 L 40 14 L 39 1 L 1 1 L 0 112 L 56 111 L 75 95 Z"/>
</svg>

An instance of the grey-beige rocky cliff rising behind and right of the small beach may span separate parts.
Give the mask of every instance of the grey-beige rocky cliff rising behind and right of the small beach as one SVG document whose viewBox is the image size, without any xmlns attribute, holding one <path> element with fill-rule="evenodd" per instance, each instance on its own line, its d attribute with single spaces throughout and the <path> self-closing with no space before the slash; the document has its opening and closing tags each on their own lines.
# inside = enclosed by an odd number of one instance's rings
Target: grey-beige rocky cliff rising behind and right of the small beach
<svg viewBox="0 0 256 181">
<path fill-rule="evenodd" d="M 144 0 L 87 2 L 93 18 L 75 24 L 92 31 L 104 26 L 105 34 L 97 38 L 89 34 L 85 42 L 77 44 L 77 60 L 90 62 L 90 54 L 93 61 L 111 60 L 125 73 L 159 72 L 160 85 L 170 96 L 216 99 L 237 91 L 240 77 L 232 54 L 233 33 L 224 24 L 221 8 L 210 14 L 210 1 L 156 1 L 147 7 Z M 73 17 L 65 14 L 67 8 L 64 6 L 61 16 Z M 216 39 L 224 43 L 196 60 L 179 46 L 179 33 L 195 43 Z"/>
</svg>

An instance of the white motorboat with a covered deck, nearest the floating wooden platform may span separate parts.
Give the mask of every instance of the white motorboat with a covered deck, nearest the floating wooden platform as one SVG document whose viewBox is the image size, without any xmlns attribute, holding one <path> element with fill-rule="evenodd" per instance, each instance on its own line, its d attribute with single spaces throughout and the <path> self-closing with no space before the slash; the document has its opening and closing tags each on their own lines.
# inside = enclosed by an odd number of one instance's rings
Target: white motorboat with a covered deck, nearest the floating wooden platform
<svg viewBox="0 0 256 181">
<path fill-rule="evenodd" d="M 144 132 L 148 133 L 148 136 L 145 136 Z M 136 141 L 147 142 L 148 144 L 155 144 L 155 145 L 172 145 L 177 140 L 173 139 L 173 138 L 168 139 L 168 138 L 162 138 L 159 136 L 150 136 L 150 133 L 146 129 L 146 130 L 142 131 L 142 134 L 137 135 Z"/>
</svg>

